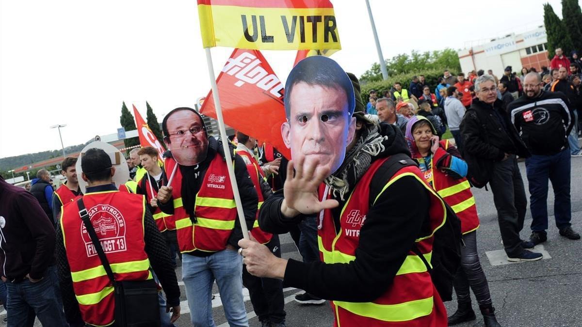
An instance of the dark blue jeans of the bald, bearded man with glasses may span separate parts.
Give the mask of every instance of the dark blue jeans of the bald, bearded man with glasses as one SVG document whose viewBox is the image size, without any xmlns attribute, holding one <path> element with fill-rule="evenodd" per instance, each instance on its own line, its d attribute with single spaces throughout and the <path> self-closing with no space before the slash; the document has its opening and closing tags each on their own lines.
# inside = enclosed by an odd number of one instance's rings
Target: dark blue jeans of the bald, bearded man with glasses
<svg viewBox="0 0 582 327">
<path fill-rule="evenodd" d="M 558 229 L 570 226 L 570 161 L 568 149 L 555 155 L 532 155 L 526 159 L 532 231 L 545 232 L 548 229 L 548 179 L 553 187 L 556 226 Z"/>
</svg>

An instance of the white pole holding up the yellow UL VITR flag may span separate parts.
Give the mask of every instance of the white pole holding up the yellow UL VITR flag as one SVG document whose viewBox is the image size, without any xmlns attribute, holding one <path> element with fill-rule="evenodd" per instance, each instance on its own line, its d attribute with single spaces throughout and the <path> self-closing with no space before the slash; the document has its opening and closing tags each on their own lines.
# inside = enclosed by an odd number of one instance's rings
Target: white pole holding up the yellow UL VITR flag
<svg viewBox="0 0 582 327">
<path fill-rule="evenodd" d="M 210 74 L 210 84 L 212 85 L 212 97 L 214 98 L 214 107 L 217 112 L 218 129 L 220 130 L 220 136 L 222 139 L 222 148 L 224 150 L 226 159 L 226 167 L 228 168 L 228 176 L 230 177 L 230 184 L 232 185 L 232 191 L 235 195 L 236 211 L 239 214 L 240 229 L 243 232 L 243 238 L 249 239 L 249 230 L 247 229 L 247 222 L 244 219 L 243 205 L 240 201 L 239 186 L 236 183 L 235 168 L 232 161 L 228 159 L 230 149 L 228 147 L 228 136 L 226 136 L 226 127 L 224 125 L 224 119 L 222 118 L 222 107 L 220 105 L 220 98 L 218 97 L 218 86 L 217 81 L 214 76 L 214 66 L 212 65 L 212 55 L 210 54 L 210 48 L 204 48 L 206 51 L 206 62 L 208 64 L 208 73 Z"/>
</svg>

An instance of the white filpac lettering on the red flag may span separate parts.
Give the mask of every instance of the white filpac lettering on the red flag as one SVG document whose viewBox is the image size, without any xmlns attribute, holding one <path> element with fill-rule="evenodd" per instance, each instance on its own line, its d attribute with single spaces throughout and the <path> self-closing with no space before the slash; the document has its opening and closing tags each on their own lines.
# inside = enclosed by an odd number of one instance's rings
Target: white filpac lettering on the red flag
<svg viewBox="0 0 582 327">
<path fill-rule="evenodd" d="M 269 74 L 261 65 L 261 60 L 250 52 L 243 52 L 236 58 L 229 58 L 222 72 L 235 76 L 235 86 L 241 87 L 244 83 L 255 84 L 276 98 L 283 98 L 283 83 L 275 74 Z"/>
</svg>

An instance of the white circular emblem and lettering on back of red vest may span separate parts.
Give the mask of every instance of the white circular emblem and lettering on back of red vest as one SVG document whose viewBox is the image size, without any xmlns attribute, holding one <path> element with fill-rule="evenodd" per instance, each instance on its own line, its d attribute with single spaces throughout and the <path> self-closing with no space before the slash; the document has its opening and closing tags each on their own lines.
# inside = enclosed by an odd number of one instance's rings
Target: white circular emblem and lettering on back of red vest
<svg viewBox="0 0 582 327">
<path fill-rule="evenodd" d="M 99 237 L 101 247 L 105 253 L 126 251 L 125 218 L 119 210 L 108 204 L 98 204 L 89 209 L 91 223 L 95 234 Z M 81 237 L 85 243 L 87 257 L 97 255 L 97 250 L 87 233 L 85 225 L 81 223 Z"/>
</svg>

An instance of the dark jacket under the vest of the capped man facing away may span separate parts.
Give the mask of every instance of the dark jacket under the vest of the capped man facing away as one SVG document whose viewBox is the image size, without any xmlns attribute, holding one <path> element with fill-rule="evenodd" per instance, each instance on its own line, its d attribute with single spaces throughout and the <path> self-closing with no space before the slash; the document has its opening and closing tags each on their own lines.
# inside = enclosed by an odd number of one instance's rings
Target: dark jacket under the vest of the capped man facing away
<svg viewBox="0 0 582 327">
<path fill-rule="evenodd" d="M 111 191 L 117 189 L 115 185 L 109 184 L 88 188 L 87 193 L 90 193 L 91 191 L 106 190 Z M 155 272 L 164 293 L 166 293 L 168 305 L 171 307 L 180 305 L 180 287 L 178 286 L 176 272 L 172 267 L 172 261 L 169 254 L 170 250 L 166 245 L 164 236 L 159 232 L 158 226 L 155 225 L 154 217 L 147 208 L 145 209 L 144 216 L 144 243 L 144 251 L 150 260 L 150 266 Z M 71 277 L 69 261 L 67 260 L 60 223 L 56 225 L 55 257 L 58 264 L 59 286 L 61 287 L 63 308 L 65 309 L 67 322 L 72 326 L 83 326 L 84 324 L 81 319 L 79 303 L 74 295 L 73 280 Z"/>
</svg>

